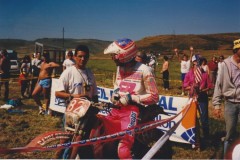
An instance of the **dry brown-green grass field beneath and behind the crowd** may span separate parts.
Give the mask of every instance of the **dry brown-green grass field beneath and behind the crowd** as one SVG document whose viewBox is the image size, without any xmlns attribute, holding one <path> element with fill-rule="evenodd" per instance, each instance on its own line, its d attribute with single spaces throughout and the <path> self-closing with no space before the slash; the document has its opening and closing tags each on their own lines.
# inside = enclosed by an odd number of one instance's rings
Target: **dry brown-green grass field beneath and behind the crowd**
<svg viewBox="0 0 240 160">
<path fill-rule="evenodd" d="M 209 60 L 216 51 L 202 51 L 202 55 Z M 231 51 L 222 51 L 225 57 L 231 55 Z M 181 93 L 180 64 L 176 58 L 170 61 L 170 90 L 163 91 L 160 69 L 162 57 L 159 57 L 159 65 L 156 69 L 156 81 L 159 94 L 179 96 Z M 112 87 L 112 80 L 116 70 L 115 64 L 110 59 L 101 59 L 94 57 L 90 59 L 88 67 L 94 72 L 97 83 L 100 86 Z M 3 90 L 3 89 L 2 89 Z M 11 81 L 10 98 L 20 97 L 20 86 L 17 79 Z M 59 116 L 41 116 L 38 115 L 38 108 L 32 99 L 22 100 L 24 105 L 20 108 L 24 113 L 8 113 L 0 109 L 0 147 L 14 148 L 23 147 L 34 137 L 47 131 L 61 130 L 61 117 Z M 0 105 L 4 102 L 0 100 Z M 216 119 L 212 115 L 211 98 L 209 99 L 209 117 L 210 117 L 210 142 L 202 151 L 192 149 L 191 145 L 172 143 L 173 159 L 219 159 L 221 158 L 221 140 L 224 135 L 224 119 Z M 238 126 L 239 129 L 239 126 Z M 50 159 L 53 158 L 53 152 L 33 152 L 23 154 L 0 154 L 2 159 Z"/>
</svg>

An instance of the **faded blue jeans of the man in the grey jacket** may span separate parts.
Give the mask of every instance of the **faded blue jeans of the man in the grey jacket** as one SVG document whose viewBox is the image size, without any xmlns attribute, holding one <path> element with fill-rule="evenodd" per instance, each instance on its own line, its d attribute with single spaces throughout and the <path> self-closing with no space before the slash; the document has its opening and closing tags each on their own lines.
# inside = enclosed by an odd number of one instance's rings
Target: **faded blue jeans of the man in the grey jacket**
<svg viewBox="0 0 240 160">
<path fill-rule="evenodd" d="M 232 141 L 236 135 L 240 103 L 225 101 L 224 118 L 226 123 L 225 141 Z"/>
</svg>

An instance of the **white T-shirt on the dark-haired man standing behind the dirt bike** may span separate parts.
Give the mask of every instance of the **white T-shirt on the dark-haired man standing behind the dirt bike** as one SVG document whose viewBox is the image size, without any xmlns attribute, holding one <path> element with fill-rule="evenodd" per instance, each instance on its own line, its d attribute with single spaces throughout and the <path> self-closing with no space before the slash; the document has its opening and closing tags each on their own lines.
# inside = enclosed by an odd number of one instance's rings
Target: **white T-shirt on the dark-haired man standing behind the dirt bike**
<svg viewBox="0 0 240 160">
<path fill-rule="evenodd" d="M 63 71 L 59 78 L 57 91 L 66 91 L 70 94 L 86 94 L 90 98 L 97 95 L 97 86 L 90 69 L 77 69 L 75 66 Z"/>
</svg>

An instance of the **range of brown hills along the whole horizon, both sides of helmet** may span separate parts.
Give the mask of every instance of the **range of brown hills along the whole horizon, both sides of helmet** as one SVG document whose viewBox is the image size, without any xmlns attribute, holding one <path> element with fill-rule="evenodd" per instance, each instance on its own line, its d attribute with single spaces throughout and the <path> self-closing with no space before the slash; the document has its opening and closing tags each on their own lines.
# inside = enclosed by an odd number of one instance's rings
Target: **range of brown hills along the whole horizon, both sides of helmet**
<svg viewBox="0 0 240 160">
<path fill-rule="evenodd" d="M 168 52 L 173 48 L 180 50 L 188 49 L 193 46 L 195 49 L 202 50 L 230 50 L 232 42 L 240 38 L 240 33 L 220 33 L 204 35 L 157 35 L 145 37 L 136 44 L 140 50 L 153 52 Z M 7 48 L 17 51 L 20 54 L 33 53 L 35 42 L 43 43 L 45 47 L 73 49 L 78 44 L 85 44 L 89 47 L 92 54 L 102 53 L 104 48 L 110 44 L 110 41 L 97 39 L 63 39 L 61 38 L 43 38 L 34 41 L 19 39 L 0 39 L 0 48 Z"/>
</svg>

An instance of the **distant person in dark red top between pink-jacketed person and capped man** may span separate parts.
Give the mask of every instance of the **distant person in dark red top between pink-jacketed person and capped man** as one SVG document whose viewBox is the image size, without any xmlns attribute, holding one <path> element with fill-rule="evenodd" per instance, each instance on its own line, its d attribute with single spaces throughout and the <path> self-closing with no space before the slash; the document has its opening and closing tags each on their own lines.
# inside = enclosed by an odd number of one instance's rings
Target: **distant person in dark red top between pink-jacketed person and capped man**
<svg viewBox="0 0 240 160">
<path fill-rule="evenodd" d="M 217 57 L 213 55 L 212 60 L 208 62 L 208 67 L 210 71 L 210 79 L 212 83 L 215 85 L 216 83 L 216 78 L 217 78 L 217 70 L 218 70 L 218 62 L 217 62 Z"/>
</svg>

